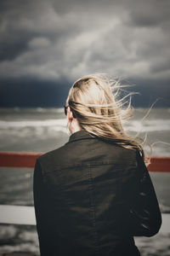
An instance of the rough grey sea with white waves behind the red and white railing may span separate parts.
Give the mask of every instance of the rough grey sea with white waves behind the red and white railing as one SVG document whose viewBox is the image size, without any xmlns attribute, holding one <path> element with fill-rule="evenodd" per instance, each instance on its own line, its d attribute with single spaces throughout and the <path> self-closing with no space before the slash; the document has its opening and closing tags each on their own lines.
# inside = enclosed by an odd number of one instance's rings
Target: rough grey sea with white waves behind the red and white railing
<svg viewBox="0 0 170 256">
<path fill-rule="evenodd" d="M 146 139 L 146 154 L 170 156 L 170 108 L 136 108 L 125 131 Z M 0 108 L 0 151 L 48 152 L 70 137 L 63 108 Z M 150 172 L 161 212 L 170 218 L 170 172 Z M 33 206 L 33 168 L 0 168 L 0 205 Z M 135 237 L 142 256 L 170 255 L 170 226 Z M 0 253 L 38 255 L 36 226 L 0 224 Z M 26 254 L 26 255 L 27 255 Z"/>
</svg>

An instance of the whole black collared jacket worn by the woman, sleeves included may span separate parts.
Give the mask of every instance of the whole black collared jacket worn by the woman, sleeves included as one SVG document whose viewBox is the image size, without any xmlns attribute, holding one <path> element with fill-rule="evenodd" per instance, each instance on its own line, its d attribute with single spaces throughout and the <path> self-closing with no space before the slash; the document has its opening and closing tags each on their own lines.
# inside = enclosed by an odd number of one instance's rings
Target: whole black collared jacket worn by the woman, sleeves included
<svg viewBox="0 0 170 256">
<path fill-rule="evenodd" d="M 33 183 L 42 256 L 140 255 L 161 212 L 138 151 L 77 131 L 37 158 Z"/>
</svg>

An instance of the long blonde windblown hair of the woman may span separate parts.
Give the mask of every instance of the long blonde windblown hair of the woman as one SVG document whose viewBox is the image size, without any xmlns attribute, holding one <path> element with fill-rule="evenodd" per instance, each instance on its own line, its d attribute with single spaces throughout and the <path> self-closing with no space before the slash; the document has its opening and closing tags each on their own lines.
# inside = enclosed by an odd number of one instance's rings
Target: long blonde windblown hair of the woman
<svg viewBox="0 0 170 256">
<path fill-rule="evenodd" d="M 82 130 L 94 136 L 114 140 L 124 148 L 138 149 L 144 158 L 140 137 L 130 136 L 122 127 L 122 120 L 133 116 L 131 95 L 120 97 L 123 85 L 118 79 L 109 79 L 104 74 L 83 76 L 72 84 L 66 100 Z M 127 97 L 130 100 L 127 101 Z"/>
</svg>

